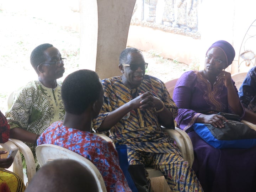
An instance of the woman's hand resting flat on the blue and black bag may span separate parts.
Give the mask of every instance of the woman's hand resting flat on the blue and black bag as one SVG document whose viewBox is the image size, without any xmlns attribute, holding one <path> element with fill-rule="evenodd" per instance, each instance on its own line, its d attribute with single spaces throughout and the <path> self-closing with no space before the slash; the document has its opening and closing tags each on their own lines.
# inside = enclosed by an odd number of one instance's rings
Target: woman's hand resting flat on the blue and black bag
<svg viewBox="0 0 256 192">
<path fill-rule="evenodd" d="M 227 122 L 228 120 L 225 117 L 218 114 L 211 114 L 211 115 L 201 114 L 197 118 L 196 123 L 208 123 L 208 124 L 212 124 L 214 127 L 222 128 L 224 127 L 223 121 Z"/>
</svg>

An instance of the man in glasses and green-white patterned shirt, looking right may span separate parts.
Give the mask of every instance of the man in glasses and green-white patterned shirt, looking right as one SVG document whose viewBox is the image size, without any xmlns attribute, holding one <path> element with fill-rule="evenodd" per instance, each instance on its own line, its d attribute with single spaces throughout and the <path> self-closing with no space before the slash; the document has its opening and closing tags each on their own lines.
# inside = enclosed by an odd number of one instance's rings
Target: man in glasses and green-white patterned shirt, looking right
<svg viewBox="0 0 256 192">
<path fill-rule="evenodd" d="M 34 48 L 30 62 L 38 80 L 28 82 L 16 94 L 12 107 L 6 112 L 10 124 L 10 137 L 22 140 L 34 154 L 39 135 L 51 123 L 64 119 L 65 110 L 60 95 L 62 82 L 57 79 L 65 71 L 64 59 L 52 44 L 41 44 Z"/>
</svg>

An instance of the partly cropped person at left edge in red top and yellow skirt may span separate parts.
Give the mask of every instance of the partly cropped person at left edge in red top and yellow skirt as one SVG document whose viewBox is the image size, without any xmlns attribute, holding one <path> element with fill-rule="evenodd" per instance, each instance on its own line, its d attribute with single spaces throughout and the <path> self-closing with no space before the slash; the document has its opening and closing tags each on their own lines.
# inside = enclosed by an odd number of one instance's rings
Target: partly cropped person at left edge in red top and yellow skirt
<svg viewBox="0 0 256 192">
<path fill-rule="evenodd" d="M 0 111 L 0 143 L 8 141 L 10 135 L 10 126 L 7 123 L 7 119 Z M 0 150 L 0 156 L 6 154 L 7 151 Z M 0 159 L 0 192 L 23 192 L 25 185 L 21 178 L 14 172 L 8 169 L 14 161 L 14 158 L 2 158 Z"/>
</svg>

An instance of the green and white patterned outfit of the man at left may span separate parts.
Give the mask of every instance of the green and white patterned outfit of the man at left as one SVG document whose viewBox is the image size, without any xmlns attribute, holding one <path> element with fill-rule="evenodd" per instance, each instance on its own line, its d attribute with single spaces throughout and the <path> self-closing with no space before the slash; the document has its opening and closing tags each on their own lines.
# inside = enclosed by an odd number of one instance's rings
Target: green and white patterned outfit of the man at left
<svg viewBox="0 0 256 192">
<path fill-rule="evenodd" d="M 64 119 L 64 106 L 60 95 L 62 82 L 55 89 L 45 87 L 38 80 L 31 81 L 17 91 L 14 103 L 6 112 L 10 128 L 20 127 L 41 134 L 50 124 Z M 38 166 L 34 144 L 26 143 L 32 150 Z"/>
</svg>

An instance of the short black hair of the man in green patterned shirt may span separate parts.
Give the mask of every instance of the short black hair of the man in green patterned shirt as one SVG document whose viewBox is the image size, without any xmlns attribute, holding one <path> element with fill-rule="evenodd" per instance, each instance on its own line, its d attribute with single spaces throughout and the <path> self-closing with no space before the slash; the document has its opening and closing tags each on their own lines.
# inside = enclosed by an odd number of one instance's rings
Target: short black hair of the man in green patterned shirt
<svg viewBox="0 0 256 192">
<path fill-rule="evenodd" d="M 49 43 L 44 43 L 44 44 L 37 46 L 36 48 L 34 48 L 32 50 L 32 52 L 30 54 L 30 63 L 32 65 L 32 67 L 34 68 L 34 70 L 36 70 L 36 72 L 38 72 L 37 66 L 40 65 L 40 63 L 45 62 L 46 56 L 45 56 L 44 52 L 49 47 L 53 47 L 53 45 L 49 44 Z"/>
</svg>

